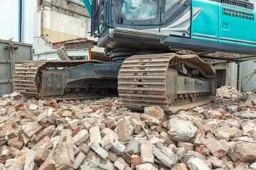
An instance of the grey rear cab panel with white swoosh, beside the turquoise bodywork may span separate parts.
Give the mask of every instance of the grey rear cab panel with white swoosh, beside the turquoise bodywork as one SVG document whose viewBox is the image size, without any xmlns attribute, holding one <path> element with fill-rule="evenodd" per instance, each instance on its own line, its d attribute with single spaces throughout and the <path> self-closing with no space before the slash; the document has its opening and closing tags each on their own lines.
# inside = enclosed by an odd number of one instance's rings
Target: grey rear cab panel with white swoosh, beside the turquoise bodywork
<svg viewBox="0 0 256 170">
<path fill-rule="evenodd" d="M 190 38 L 191 0 L 162 0 L 160 32 Z"/>
</svg>

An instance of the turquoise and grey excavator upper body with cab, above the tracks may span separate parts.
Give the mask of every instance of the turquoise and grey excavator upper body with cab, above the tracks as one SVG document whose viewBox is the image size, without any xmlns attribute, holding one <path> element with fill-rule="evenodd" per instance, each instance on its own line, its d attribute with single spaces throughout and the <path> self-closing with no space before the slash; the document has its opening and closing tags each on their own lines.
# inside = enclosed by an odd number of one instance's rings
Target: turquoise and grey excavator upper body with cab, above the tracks
<svg viewBox="0 0 256 170">
<path fill-rule="evenodd" d="M 255 55 L 255 16 L 246 0 L 94 0 L 91 33 L 112 50 Z"/>
</svg>

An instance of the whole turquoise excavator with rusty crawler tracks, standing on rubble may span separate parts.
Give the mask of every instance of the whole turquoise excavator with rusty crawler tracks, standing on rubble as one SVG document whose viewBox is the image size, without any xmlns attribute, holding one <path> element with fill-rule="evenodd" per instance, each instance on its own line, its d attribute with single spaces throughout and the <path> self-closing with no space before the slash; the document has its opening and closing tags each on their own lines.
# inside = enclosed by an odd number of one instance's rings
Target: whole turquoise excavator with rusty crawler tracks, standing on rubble
<svg viewBox="0 0 256 170">
<path fill-rule="evenodd" d="M 32 61 L 16 68 L 27 98 L 119 95 L 132 110 L 176 112 L 212 101 L 216 75 L 206 60 L 256 55 L 256 11 L 248 0 L 81 0 L 91 35 L 112 62 Z"/>
</svg>

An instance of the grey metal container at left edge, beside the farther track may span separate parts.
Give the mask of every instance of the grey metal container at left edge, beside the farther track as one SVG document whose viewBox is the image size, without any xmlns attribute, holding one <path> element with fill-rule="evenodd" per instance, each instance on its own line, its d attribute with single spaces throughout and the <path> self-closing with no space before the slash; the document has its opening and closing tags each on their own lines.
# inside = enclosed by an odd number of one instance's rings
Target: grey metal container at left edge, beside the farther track
<svg viewBox="0 0 256 170">
<path fill-rule="evenodd" d="M 16 66 L 32 60 L 32 56 L 31 44 L 0 40 L 0 96 L 14 91 Z"/>
</svg>

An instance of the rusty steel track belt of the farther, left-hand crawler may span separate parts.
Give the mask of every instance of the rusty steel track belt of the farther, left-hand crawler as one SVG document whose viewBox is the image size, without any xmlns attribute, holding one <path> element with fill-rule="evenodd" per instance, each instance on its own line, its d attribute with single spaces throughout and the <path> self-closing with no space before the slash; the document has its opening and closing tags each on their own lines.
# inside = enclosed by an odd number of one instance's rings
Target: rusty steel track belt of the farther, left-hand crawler
<svg viewBox="0 0 256 170">
<path fill-rule="evenodd" d="M 63 96 L 43 96 L 41 94 L 41 71 L 48 68 L 56 67 L 75 67 L 85 63 L 103 63 L 97 60 L 75 60 L 75 61 L 33 61 L 24 62 L 21 66 L 16 67 L 14 75 L 14 88 L 26 98 L 47 98 L 47 99 L 82 99 L 82 98 L 103 98 L 117 96 L 116 92 L 102 95 L 95 89 L 87 89 L 86 91 L 76 92 L 69 89 Z M 58 80 L 53 80 L 58 81 Z"/>
</svg>

